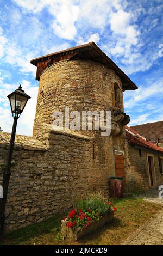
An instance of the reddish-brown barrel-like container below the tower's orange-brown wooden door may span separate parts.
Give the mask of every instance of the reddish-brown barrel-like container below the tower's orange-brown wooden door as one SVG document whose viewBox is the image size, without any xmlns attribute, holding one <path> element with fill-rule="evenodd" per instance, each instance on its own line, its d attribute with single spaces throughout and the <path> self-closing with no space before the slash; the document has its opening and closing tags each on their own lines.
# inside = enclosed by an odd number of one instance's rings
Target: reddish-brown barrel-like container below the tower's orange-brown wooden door
<svg viewBox="0 0 163 256">
<path fill-rule="evenodd" d="M 109 191 L 111 198 L 122 198 L 124 196 L 124 189 L 125 181 L 123 178 L 109 178 Z"/>
</svg>

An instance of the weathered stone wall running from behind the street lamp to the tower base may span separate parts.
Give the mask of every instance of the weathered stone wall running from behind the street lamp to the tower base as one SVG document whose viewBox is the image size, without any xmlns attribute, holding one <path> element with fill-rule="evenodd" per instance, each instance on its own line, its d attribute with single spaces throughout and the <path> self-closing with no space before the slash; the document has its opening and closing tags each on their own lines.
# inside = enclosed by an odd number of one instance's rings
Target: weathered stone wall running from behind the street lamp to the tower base
<svg viewBox="0 0 163 256">
<path fill-rule="evenodd" d="M 1 132 L 0 136 L 2 184 L 9 133 Z M 107 142 L 95 143 L 83 135 L 47 131 L 44 138 L 48 145 L 31 137 L 16 136 L 6 208 L 7 230 L 61 214 L 89 191 L 108 193 L 108 178 L 113 175 L 111 137 Z"/>
</svg>

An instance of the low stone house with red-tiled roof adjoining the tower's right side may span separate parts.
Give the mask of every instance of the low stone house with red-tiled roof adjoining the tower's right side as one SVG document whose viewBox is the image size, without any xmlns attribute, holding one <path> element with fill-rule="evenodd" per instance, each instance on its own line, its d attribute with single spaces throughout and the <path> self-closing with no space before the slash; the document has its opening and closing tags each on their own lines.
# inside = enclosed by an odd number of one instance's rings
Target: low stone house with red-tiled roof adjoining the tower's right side
<svg viewBox="0 0 163 256">
<path fill-rule="evenodd" d="M 129 192 L 163 183 L 163 149 L 126 126 L 126 183 Z"/>
</svg>

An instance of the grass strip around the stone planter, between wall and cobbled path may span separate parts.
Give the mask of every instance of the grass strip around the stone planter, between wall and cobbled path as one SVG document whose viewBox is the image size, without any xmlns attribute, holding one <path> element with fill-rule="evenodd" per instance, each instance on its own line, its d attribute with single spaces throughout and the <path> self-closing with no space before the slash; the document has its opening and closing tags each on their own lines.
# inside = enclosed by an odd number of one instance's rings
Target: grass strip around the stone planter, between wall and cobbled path
<svg viewBox="0 0 163 256">
<path fill-rule="evenodd" d="M 145 202 L 133 196 L 114 199 L 118 209 L 115 220 L 102 229 L 77 242 L 63 240 L 61 217 L 54 216 L 40 223 L 29 225 L 6 234 L 3 245 L 120 245 L 140 225 L 162 209 L 161 205 Z"/>
</svg>

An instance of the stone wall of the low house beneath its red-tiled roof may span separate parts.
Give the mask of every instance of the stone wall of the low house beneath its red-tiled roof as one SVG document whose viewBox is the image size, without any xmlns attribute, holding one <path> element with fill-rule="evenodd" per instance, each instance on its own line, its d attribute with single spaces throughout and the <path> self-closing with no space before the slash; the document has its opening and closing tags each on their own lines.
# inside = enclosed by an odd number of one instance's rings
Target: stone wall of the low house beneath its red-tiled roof
<svg viewBox="0 0 163 256">
<path fill-rule="evenodd" d="M 125 142 L 125 166 L 126 183 L 128 192 L 146 191 L 149 186 L 147 154 L 153 154 L 156 174 L 156 185 L 163 182 L 163 175 L 160 173 L 158 154 L 149 153 L 141 149 L 142 156 L 139 156 L 139 149 L 131 145 L 126 139 Z"/>
</svg>

